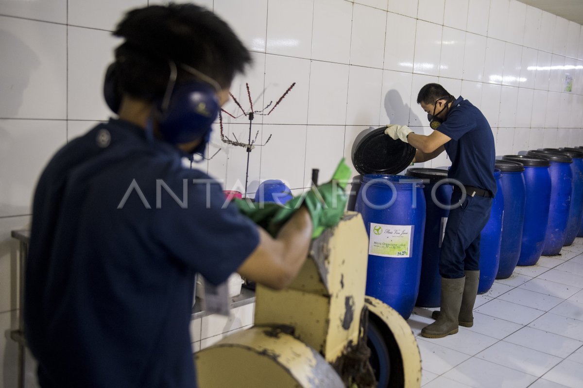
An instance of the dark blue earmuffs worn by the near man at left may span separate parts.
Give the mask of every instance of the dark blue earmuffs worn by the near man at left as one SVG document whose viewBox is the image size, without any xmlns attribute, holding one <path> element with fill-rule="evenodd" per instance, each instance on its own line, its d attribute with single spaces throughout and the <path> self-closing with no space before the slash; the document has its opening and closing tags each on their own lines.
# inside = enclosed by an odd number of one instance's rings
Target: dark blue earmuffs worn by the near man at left
<svg viewBox="0 0 583 388">
<path fill-rule="evenodd" d="M 202 151 L 208 142 L 213 121 L 219 115 L 220 104 L 216 92 L 219 84 L 191 66 L 180 67 L 198 76 L 205 82 L 189 80 L 176 82 L 177 66 L 170 65 L 170 79 L 163 98 L 154 101 L 154 117 L 160 132 L 169 143 L 188 143 L 202 139 Z M 120 111 L 122 96 L 118 89 L 117 63 L 109 65 L 103 84 L 103 95 L 108 107 L 117 114 Z M 199 147 L 197 149 L 200 149 Z"/>
</svg>

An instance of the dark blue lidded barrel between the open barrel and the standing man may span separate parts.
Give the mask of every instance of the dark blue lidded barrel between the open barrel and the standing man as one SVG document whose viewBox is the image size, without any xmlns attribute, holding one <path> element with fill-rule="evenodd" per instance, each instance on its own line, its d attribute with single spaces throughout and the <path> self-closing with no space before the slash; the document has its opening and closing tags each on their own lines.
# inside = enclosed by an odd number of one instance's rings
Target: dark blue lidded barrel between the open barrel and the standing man
<svg viewBox="0 0 583 388">
<path fill-rule="evenodd" d="M 439 258 L 445 225 L 449 216 L 449 209 L 442 208 L 451 204 L 452 186 L 451 184 L 438 184 L 436 186 L 437 182 L 447 178 L 447 170 L 437 168 L 409 168 L 406 175 L 424 179 L 423 193 L 426 204 L 421 277 L 419 281 L 419 295 L 417 295 L 415 305 L 421 307 L 439 307 L 441 304 Z"/>
</svg>

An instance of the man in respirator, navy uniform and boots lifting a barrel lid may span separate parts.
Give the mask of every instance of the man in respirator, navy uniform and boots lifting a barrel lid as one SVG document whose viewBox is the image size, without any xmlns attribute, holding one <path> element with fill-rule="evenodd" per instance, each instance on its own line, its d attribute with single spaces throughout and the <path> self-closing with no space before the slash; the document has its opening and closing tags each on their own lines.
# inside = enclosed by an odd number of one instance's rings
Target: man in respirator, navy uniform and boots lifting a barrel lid
<svg viewBox="0 0 583 388">
<path fill-rule="evenodd" d="M 405 125 L 387 125 L 385 133 L 417 149 L 413 162 L 431 160 L 445 151 L 451 160 L 448 178 L 456 179 L 441 245 L 441 310 L 422 336 L 441 338 L 458 332 L 458 324 L 473 325 L 473 305 L 480 280 L 480 232 L 490 218 L 496 195 L 494 136 L 478 108 L 455 98 L 440 84 L 426 84 L 417 104 L 427 112 L 430 135 L 417 135 Z M 463 196 L 465 195 L 465 199 Z"/>
</svg>

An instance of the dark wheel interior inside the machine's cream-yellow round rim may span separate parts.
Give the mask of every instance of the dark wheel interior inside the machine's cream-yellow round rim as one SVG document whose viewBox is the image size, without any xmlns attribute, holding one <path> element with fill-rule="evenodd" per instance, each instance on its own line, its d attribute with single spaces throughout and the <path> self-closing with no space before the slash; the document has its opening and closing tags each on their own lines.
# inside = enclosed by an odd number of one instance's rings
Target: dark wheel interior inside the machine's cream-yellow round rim
<svg viewBox="0 0 583 388">
<path fill-rule="evenodd" d="M 379 388 L 397 388 L 404 384 L 403 359 L 395 337 L 387 326 L 370 313 L 368 315 L 367 346 L 370 362 Z"/>
</svg>

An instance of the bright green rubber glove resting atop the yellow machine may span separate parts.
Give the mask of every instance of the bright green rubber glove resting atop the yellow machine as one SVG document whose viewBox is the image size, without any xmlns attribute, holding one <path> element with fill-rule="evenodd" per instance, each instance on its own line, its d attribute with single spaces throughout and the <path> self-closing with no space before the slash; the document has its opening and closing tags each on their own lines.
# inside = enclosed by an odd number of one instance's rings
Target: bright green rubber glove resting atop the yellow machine
<svg viewBox="0 0 583 388">
<path fill-rule="evenodd" d="M 279 229 L 301 206 L 305 206 L 310 212 L 313 224 L 312 238 L 317 238 L 326 228 L 335 227 L 346 209 L 348 198 L 345 188 L 350 174 L 350 168 L 344 163 L 344 160 L 340 161 L 330 182 L 312 188 L 303 195 L 289 200 L 275 214 L 271 220 L 270 228 L 272 230 Z"/>
</svg>

